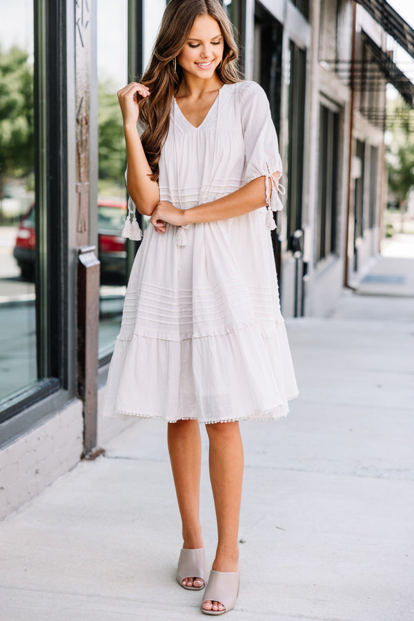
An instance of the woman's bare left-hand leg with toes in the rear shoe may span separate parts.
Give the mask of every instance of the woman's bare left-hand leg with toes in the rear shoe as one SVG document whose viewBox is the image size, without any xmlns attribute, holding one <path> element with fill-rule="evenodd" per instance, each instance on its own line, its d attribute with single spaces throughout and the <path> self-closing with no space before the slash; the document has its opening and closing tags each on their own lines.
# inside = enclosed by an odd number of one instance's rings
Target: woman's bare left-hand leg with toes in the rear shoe
<svg viewBox="0 0 414 621">
<path fill-rule="evenodd" d="M 203 548 L 199 517 L 201 437 L 197 420 L 179 420 L 168 423 L 168 451 L 179 513 L 182 522 L 183 548 Z M 188 576 L 183 586 L 199 587 L 203 580 Z"/>
</svg>

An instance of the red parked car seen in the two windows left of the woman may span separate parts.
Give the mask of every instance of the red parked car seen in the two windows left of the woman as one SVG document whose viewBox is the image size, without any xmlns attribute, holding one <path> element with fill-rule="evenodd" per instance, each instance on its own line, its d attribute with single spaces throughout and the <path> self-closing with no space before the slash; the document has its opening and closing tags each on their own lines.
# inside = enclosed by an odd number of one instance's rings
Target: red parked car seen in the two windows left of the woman
<svg viewBox="0 0 414 621">
<path fill-rule="evenodd" d="M 121 237 L 126 218 L 126 201 L 99 199 L 98 201 L 98 257 L 101 276 L 126 277 L 126 239 Z M 34 231 L 34 204 L 19 224 L 13 255 L 21 270 L 21 277 L 34 277 L 36 235 Z M 122 281 L 124 282 L 124 280 Z"/>
</svg>

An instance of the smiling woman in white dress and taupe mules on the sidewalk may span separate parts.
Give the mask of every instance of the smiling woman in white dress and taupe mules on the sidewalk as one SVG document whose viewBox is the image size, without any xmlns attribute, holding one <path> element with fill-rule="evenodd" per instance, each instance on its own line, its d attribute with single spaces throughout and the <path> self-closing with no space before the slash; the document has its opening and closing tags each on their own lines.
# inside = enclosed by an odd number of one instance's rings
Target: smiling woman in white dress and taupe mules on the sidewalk
<svg viewBox="0 0 414 621">
<path fill-rule="evenodd" d="M 218 530 L 201 603 L 210 615 L 230 611 L 239 588 L 239 420 L 286 415 L 297 395 L 269 233 L 272 210 L 282 208 L 282 162 L 266 95 L 239 79 L 236 58 L 217 0 L 172 0 L 141 83 L 118 92 L 128 192 L 150 225 L 104 413 L 168 421 L 184 589 L 206 580 L 199 423 L 207 423 Z M 128 217 L 126 232 L 136 228 Z"/>
</svg>

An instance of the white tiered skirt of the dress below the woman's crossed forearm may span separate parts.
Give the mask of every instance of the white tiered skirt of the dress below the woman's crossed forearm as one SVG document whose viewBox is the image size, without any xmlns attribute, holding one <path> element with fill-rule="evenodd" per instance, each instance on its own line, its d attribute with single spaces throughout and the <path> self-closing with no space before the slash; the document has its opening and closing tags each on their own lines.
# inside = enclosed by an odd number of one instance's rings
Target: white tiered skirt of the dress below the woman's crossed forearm
<svg viewBox="0 0 414 621">
<path fill-rule="evenodd" d="M 103 414 L 215 423 L 278 418 L 297 384 L 266 209 L 159 235 L 130 275 Z"/>
</svg>

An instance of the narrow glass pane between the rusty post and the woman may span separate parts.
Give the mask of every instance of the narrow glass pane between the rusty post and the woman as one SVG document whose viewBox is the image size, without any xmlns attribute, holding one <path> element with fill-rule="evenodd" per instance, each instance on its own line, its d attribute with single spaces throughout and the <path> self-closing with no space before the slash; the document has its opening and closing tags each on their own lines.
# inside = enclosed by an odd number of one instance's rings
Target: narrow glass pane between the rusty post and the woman
<svg viewBox="0 0 414 621">
<path fill-rule="evenodd" d="M 126 290 L 126 153 L 117 90 L 128 81 L 128 0 L 97 3 L 98 61 L 98 254 L 101 262 L 99 357 L 110 353 L 119 332 Z"/>
</svg>

